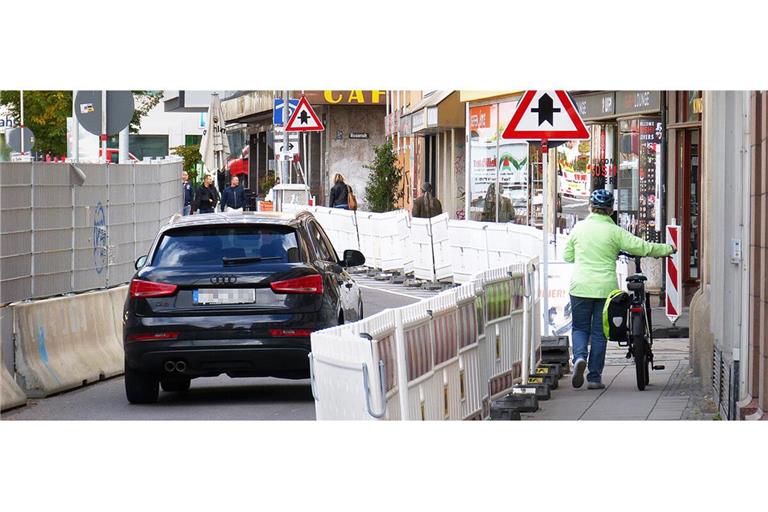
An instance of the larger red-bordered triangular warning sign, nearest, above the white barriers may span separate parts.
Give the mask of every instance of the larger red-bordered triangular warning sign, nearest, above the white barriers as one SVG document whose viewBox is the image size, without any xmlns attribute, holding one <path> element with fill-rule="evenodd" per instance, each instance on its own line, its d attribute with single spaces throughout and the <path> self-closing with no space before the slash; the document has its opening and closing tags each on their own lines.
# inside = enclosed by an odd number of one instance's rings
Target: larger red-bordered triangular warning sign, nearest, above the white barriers
<svg viewBox="0 0 768 512">
<path fill-rule="evenodd" d="M 589 131 L 565 91 L 526 91 L 504 139 L 585 140 Z"/>
</svg>

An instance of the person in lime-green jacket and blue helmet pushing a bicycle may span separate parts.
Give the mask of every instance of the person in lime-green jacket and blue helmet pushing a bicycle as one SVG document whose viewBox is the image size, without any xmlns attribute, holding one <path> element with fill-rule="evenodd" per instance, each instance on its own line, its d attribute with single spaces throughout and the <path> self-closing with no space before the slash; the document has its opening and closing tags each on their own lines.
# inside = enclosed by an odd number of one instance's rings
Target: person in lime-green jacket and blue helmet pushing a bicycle
<svg viewBox="0 0 768 512">
<path fill-rule="evenodd" d="M 603 389 L 606 339 L 603 333 L 603 306 L 611 291 L 617 289 L 616 258 L 619 251 L 633 256 L 669 256 L 668 244 L 654 244 L 632 235 L 613 222 L 613 193 L 598 189 L 590 197 L 586 219 L 574 226 L 565 247 L 565 261 L 575 263 L 571 278 L 571 315 L 573 338 L 573 387 L 584 384 L 584 370 L 589 360 L 588 389 Z M 587 345 L 591 339 L 589 354 Z"/>
</svg>

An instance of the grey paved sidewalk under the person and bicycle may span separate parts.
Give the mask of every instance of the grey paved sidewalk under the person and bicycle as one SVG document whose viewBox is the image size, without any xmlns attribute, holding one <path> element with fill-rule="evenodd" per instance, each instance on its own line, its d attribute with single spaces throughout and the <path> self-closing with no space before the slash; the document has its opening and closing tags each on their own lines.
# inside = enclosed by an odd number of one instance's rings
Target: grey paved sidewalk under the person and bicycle
<svg viewBox="0 0 768 512">
<path fill-rule="evenodd" d="M 589 390 L 586 381 L 575 389 L 566 374 L 552 390 L 549 400 L 539 402 L 535 413 L 524 413 L 523 420 L 680 420 L 711 419 L 702 407 L 700 393 L 692 377 L 688 360 L 687 338 L 656 339 L 653 342 L 655 364 L 664 370 L 651 370 L 650 383 L 638 391 L 635 366 L 626 359 L 627 349 L 608 344 L 603 370 L 605 389 Z M 586 376 L 586 375 L 585 375 Z M 586 380 L 586 379 L 585 379 Z M 705 414 L 698 414 L 700 411 Z M 696 411 L 693 414 L 692 411 Z"/>
</svg>

